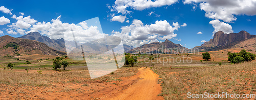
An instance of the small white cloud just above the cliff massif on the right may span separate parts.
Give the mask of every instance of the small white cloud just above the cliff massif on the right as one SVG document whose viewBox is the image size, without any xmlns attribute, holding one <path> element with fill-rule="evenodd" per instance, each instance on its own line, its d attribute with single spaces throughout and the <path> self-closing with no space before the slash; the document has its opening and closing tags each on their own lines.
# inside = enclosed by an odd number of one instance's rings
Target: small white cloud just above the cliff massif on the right
<svg viewBox="0 0 256 100">
<path fill-rule="evenodd" d="M 233 32 L 231 25 L 225 22 L 221 22 L 219 19 L 212 20 L 209 23 L 212 25 L 212 27 L 214 27 L 214 31 L 212 32 L 213 34 L 215 34 L 215 32 L 218 32 L 219 30 L 223 31 L 225 34 Z"/>
</svg>

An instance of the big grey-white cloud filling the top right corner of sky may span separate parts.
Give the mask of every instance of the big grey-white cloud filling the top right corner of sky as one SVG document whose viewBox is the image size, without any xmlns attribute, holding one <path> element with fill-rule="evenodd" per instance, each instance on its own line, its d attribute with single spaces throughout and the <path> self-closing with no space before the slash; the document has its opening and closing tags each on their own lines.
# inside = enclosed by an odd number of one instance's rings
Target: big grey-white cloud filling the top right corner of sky
<svg viewBox="0 0 256 100">
<path fill-rule="evenodd" d="M 234 15 L 256 15 L 255 0 L 185 0 L 184 4 L 200 3 L 201 10 L 204 10 L 205 17 L 220 19 L 225 22 L 237 20 Z"/>
</svg>

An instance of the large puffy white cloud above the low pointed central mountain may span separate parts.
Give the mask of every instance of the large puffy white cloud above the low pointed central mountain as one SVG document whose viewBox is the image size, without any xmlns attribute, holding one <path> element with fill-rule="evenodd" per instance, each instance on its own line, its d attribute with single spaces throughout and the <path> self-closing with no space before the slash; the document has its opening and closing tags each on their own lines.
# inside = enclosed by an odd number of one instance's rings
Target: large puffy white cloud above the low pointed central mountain
<svg viewBox="0 0 256 100">
<path fill-rule="evenodd" d="M 157 20 L 154 24 L 144 25 L 140 20 L 134 19 L 130 26 L 122 26 L 121 32 L 113 30 L 112 34 L 121 37 L 124 44 L 138 47 L 158 42 L 158 39 L 172 39 L 177 36 L 174 30 L 178 30 L 179 27 L 178 22 L 169 24 L 166 20 Z"/>
</svg>

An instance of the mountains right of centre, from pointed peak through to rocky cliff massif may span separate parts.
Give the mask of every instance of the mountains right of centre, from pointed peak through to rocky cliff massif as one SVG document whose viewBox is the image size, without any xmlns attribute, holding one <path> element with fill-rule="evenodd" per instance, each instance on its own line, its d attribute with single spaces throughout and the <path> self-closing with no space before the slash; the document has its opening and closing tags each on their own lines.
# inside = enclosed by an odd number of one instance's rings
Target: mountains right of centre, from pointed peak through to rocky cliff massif
<svg viewBox="0 0 256 100">
<path fill-rule="evenodd" d="M 134 48 L 127 53 L 184 53 L 195 51 L 217 51 L 223 49 L 241 48 L 256 53 L 256 36 L 250 35 L 247 31 L 238 33 L 225 34 L 223 31 L 215 33 L 214 38 L 201 46 L 196 46 L 193 49 L 187 49 L 180 44 L 175 44 L 169 40 L 162 43 L 154 42 Z M 162 51 L 162 52 L 161 52 Z"/>
</svg>

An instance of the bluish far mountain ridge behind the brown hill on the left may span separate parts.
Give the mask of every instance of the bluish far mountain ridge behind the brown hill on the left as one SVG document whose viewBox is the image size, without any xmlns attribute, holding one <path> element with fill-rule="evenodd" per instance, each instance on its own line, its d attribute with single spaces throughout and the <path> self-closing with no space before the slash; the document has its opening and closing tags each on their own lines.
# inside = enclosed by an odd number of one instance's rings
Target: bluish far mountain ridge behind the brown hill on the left
<svg viewBox="0 0 256 100">
<path fill-rule="evenodd" d="M 39 41 L 55 50 L 66 52 L 65 40 L 63 38 L 57 40 L 50 39 L 47 36 L 41 36 L 37 31 L 29 32 L 27 35 L 18 38 Z"/>
</svg>

